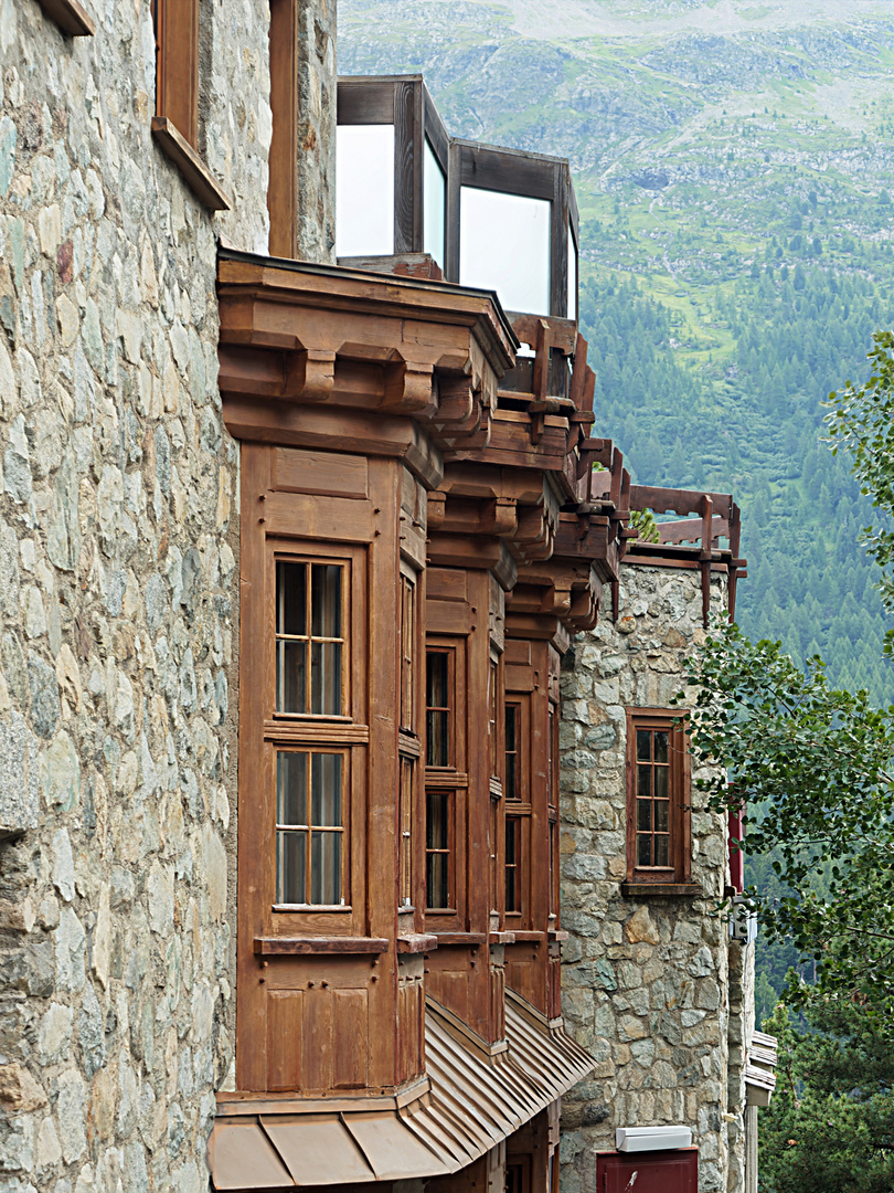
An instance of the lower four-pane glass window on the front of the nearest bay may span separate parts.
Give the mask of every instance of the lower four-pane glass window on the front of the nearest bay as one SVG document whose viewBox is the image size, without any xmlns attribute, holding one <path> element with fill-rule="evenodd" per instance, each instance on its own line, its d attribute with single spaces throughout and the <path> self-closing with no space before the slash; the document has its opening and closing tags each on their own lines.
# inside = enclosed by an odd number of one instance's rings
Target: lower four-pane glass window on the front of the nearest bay
<svg viewBox="0 0 894 1193">
<path fill-rule="evenodd" d="M 277 752 L 277 902 L 337 905 L 342 898 L 344 758 Z"/>
</svg>

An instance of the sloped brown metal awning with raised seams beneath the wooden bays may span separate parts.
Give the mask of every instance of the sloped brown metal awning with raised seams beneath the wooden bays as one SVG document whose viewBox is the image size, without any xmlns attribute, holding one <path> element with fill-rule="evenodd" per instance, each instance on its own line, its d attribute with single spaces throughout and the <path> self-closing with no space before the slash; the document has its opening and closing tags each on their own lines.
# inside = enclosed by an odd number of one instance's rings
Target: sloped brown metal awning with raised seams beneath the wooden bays
<svg viewBox="0 0 894 1193">
<path fill-rule="evenodd" d="M 468 1033 L 464 1038 L 449 1012 L 429 1001 L 430 1089 L 408 1106 L 218 1117 L 209 1144 L 213 1188 L 255 1193 L 459 1172 L 592 1069 L 560 1022 L 548 1024 L 511 991 L 505 1015 L 508 1049 L 490 1057 Z"/>
</svg>

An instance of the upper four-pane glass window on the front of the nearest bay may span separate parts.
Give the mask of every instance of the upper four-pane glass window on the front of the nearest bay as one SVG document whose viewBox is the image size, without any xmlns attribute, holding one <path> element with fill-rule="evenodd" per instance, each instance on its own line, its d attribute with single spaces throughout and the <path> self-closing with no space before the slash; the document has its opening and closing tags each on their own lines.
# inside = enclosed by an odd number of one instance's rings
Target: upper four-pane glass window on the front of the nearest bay
<svg viewBox="0 0 894 1193">
<path fill-rule="evenodd" d="M 343 587 L 341 564 L 277 562 L 277 712 L 342 715 Z"/>
</svg>

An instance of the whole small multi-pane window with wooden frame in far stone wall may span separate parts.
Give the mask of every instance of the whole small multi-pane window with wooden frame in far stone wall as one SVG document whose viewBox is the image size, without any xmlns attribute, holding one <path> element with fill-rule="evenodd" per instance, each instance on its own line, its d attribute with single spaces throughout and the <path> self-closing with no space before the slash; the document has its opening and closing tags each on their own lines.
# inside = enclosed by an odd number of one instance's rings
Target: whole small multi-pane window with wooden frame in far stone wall
<svg viewBox="0 0 894 1193">
<path fill-rule="evenodd" d="M 689 755 L 679 713 L 627 711 L 627 880 L 690 877 Z"/>
</svg>

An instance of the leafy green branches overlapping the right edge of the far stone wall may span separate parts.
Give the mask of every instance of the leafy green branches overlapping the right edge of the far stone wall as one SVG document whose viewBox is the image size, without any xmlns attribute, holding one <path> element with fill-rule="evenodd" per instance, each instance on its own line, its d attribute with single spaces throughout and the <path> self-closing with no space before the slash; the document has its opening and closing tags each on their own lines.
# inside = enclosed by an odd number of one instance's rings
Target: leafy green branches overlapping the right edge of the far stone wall
<svg viewBox="0 0 894 1193">
<path fill-rule="evenodd" d="M 894 1036 L 894 709 L 737 626 L 707 638 L 688 680 L 694 771 L 715 764 L 696 786 L 715 811 L 745 799 L 749 853 L 771 854 L 781 884 L 749 888 L 763 929 L 814 963 L 814 985 L 789 976 L 789 1001 L 859 999 Z"/>
</svg>

